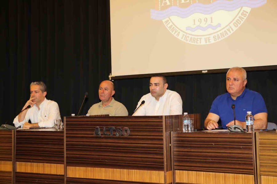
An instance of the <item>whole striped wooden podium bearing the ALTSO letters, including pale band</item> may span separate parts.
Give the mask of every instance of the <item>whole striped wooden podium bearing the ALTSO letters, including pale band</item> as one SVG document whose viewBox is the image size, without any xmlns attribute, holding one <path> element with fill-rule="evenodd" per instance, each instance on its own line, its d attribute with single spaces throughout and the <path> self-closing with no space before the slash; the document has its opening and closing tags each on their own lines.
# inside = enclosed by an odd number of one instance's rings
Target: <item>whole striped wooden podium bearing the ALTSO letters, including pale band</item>
<svg viewBox="0 0 277 184">
<path fill-rule="evenodd" d="M 172 183 L 182 115 L 65 117 L 66 183 Z"/>
</svg>

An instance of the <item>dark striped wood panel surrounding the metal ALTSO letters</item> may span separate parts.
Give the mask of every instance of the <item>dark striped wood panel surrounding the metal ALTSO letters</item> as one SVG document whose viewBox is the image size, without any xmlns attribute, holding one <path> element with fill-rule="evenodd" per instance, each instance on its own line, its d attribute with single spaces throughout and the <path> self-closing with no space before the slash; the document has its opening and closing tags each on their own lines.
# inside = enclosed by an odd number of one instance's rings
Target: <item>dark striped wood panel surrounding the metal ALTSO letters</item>
<svg viewBox="0 0 277 184">
<path fill-rule="evenodd" d="M 102 136 L 94 136 L 101 128 Z M 102 127 L 128 127 L 129 136 L 103 136 Z M 163 117 L 65 117 L 66 165 L 164 170 Z"/>
</svg>

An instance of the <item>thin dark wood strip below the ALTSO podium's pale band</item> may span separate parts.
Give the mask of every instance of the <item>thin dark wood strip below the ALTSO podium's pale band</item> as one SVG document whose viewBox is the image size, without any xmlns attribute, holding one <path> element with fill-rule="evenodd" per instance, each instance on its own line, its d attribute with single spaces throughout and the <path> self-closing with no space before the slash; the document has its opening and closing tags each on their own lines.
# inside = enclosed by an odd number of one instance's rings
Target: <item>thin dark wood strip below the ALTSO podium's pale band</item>
<svg viewBox="0 0 277 184">
<path fill-rule="evenodd" d="M 116 181 L 116 180 L 102 180 L 102 179 L 88 179 L 88 178 L 67 178 L 66 184 L 149 184 L 148 182 L 127 182 L 127 181 Z M 151 183 L 158 184 L 158 183 Z"/>
</svg>

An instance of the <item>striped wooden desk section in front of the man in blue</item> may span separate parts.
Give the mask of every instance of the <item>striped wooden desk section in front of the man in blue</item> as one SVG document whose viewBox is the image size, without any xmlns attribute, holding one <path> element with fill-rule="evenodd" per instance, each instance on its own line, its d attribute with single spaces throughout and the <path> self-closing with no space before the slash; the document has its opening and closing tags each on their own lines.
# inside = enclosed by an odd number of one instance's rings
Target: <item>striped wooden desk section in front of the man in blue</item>
<svg viewBox="0 0 277 184">
<path fill-rule="evenodd" d="M 172 133 L 175 183 L 256 183 L 254 133 Z"/>
</svg>

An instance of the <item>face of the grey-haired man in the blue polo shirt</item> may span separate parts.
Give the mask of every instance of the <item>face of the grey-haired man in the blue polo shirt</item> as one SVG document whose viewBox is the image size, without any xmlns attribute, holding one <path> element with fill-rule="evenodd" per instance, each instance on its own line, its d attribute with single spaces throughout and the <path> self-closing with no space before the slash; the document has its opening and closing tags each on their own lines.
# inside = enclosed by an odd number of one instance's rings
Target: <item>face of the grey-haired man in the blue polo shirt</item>
<svg viewBox="0 0 277 184">
<path fill-rule="evenodd" d="M 247 80 L 243 80 L 243 72 L 239 70 L 229 71 L 226 75 L 226 89 L 232 97 L 242 94 Z"/>
</svg>

